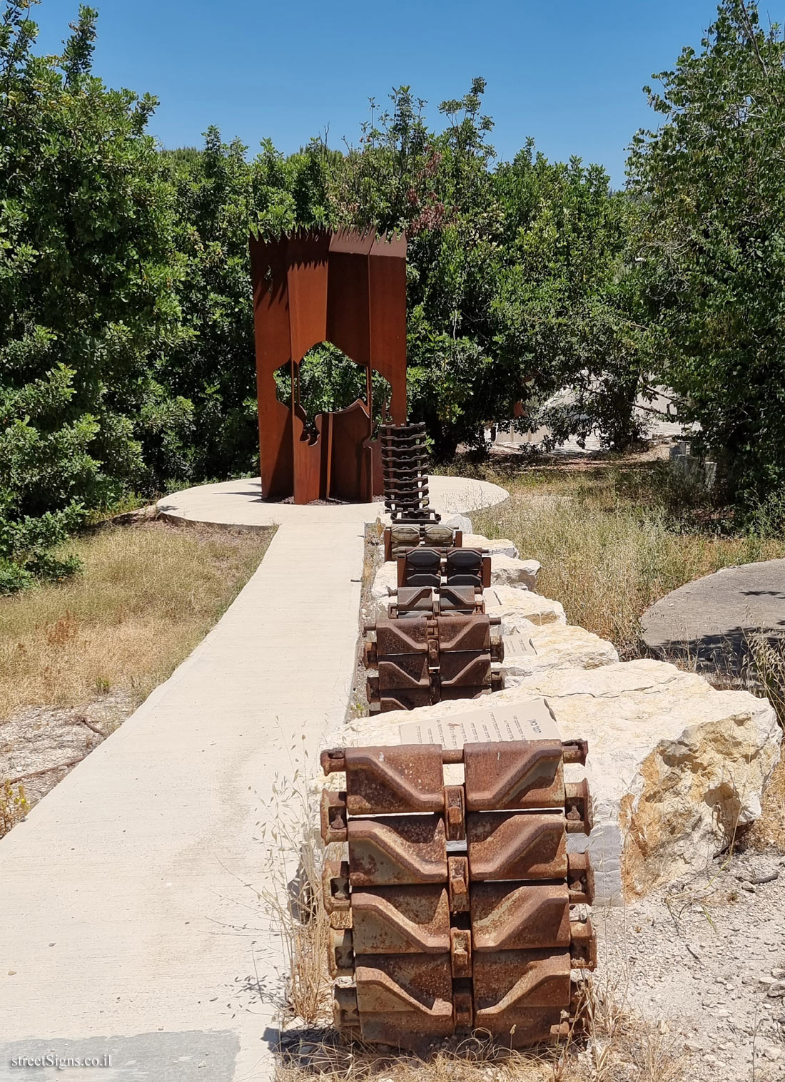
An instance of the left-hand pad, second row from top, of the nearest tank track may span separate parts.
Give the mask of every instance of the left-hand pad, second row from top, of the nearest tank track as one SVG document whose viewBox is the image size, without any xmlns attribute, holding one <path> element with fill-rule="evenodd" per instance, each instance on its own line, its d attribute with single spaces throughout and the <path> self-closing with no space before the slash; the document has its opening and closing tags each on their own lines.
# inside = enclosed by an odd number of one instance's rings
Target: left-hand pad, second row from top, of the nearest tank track
<svg viewBox="0 0 785 1082">
<path fill-rule="evenodd" d="M 349 820 L 352 887 L 445 883 L 447 843 L 436 815 Z"/>
</svg>

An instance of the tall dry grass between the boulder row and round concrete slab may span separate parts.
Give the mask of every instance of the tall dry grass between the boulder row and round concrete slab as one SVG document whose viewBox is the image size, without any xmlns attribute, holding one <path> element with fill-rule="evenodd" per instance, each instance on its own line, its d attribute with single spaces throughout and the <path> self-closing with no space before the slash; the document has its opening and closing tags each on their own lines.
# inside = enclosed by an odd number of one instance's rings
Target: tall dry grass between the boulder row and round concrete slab
<svg viewBox="0 0 785 1082">
<path fill-rule="evenodd" d="M 640 618 L 670 590 L 721 567 L 785 556 L 785 541 L 689 528 L 669 514 L 658 470 L 514 473 L 483 471 L 509 503 L 472 515 L 486 537 L 508 537 L 542 564 L 538 590 L 557 597 L 571 623 L 638 648 Z"/>
</svg>

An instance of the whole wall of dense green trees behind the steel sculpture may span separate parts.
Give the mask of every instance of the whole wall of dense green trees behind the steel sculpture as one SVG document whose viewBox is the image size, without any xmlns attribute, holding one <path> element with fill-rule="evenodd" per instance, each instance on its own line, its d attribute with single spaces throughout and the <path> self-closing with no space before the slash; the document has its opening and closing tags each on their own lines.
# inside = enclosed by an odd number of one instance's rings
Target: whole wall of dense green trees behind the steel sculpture
<svg viewBox="0 0 785 1082">
<path fill-rule="evenodd" d="M 723 0 L 659 77 L 664 124 L 614 193 L 531 142 L 497 163 L 482 79 L 437 130 L 401 88 L 345 154 L 249 157 L 214 128 L 161 150 L 155 100 L 91 71 L 96 13 L 45 57 L 36 2 L 0 24 L 0 592 L 68 573 L 53 547 L 132 493 L 256 469 L 249 230 L 406 230 L 409 414 L 437 458 L 516 404 L 624 449 L 665 382 L 741 505 L 782 486 L 784 47 L 753 4 Z M 311 415 L 363 390 L 329 345 L 302 373 Z"/>
</svg>

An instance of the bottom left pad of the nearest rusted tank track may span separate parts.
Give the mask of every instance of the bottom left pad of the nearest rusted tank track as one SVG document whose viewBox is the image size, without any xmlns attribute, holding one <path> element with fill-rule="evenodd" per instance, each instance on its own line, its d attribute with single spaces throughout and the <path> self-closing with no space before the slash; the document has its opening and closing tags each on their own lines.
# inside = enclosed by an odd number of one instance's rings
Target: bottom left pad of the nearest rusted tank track
<svg viewBox="0 0 785 1082">
<path fill-rule="evenodd" d="M 355 968 L 363 1039 L 416 1047 L 453 1032 L 449 954 L 365 954 Z"/>
</svg>

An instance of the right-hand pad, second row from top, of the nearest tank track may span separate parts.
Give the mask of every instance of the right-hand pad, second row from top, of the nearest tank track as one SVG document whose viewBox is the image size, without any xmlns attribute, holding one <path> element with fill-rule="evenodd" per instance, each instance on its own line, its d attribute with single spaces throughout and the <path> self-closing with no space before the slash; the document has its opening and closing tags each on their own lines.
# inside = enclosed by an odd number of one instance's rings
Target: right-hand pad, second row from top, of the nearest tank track
<svg viewBox="0 0 785 1082">
<path fill-rule="evenodd" d="M 472 881 L 564 879 L 565 828 L 564 816 L 555 812 L 470 812 L 466 834 Z"/>
</svg>

